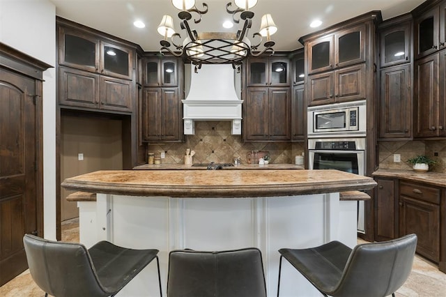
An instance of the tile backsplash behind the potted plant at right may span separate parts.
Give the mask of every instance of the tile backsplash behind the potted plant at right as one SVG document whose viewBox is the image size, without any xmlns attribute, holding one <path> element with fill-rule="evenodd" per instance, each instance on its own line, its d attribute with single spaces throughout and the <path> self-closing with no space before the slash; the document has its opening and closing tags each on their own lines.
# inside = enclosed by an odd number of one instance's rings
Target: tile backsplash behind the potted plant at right
<svg viewBox="0 0 446 297">
<path fill-rule="evenodd" d="M 401 162 L 393 162 L 395 153 L 401 155 Z M 415 155 L 427 155 L 436 160 L 431 171 L 446 173 L 446 140 L 379 142 L 379 167 L 382 169 L 412 169 L 407 160 Z"/>
</svg>

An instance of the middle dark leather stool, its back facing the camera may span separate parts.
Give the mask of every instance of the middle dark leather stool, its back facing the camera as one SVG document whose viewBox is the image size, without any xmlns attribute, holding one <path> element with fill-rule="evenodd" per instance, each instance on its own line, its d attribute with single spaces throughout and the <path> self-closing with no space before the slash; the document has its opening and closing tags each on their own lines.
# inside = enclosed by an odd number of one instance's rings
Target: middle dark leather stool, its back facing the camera
<svg viewBox="0 0 446 297">
<path fill-rule="evenodd" d="M 261 252 L 171 251 L 167 296 L 266 297 Z"/>
</svg>

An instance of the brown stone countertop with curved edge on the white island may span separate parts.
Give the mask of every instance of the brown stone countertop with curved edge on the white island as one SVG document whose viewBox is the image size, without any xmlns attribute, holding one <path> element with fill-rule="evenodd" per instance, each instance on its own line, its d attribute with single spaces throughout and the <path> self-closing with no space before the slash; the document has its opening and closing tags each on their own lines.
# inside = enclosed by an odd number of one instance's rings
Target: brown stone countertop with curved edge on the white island
<svg viewBox="0 0 446 297">
<path fill-rule="evenodd" d="M 67 190 L 156 197 L 274 197 L 369 190 L 373 178 L 338 170 L 118 170 L 66 178 Z"/>
</svg>

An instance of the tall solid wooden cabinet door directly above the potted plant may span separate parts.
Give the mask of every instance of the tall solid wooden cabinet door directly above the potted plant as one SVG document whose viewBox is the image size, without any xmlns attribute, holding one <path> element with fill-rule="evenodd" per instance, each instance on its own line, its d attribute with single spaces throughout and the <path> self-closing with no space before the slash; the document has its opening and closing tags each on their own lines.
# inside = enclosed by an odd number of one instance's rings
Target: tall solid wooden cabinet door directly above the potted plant
<svg viewBox="0 0 446 297">
<path fill-rule="evenodd" d="M 415 63 L 414 137 L 438 136 L 438 54 Z"/>
</svg>

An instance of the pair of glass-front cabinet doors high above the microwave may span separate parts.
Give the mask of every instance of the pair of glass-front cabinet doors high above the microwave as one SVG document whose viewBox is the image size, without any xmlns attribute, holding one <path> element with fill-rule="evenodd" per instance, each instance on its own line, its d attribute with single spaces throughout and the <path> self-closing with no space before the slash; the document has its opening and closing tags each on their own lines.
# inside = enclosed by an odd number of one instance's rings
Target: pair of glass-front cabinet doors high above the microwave
<svg viewBox="0 0 446 297">
<path fill-rule="evenodd" d="M 365 24 L 309 41 L 308 73 L 320 73 L 365 61 Z"/>
</svg>

